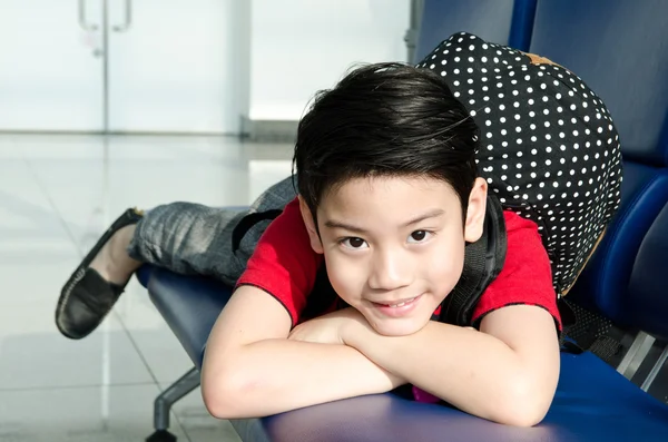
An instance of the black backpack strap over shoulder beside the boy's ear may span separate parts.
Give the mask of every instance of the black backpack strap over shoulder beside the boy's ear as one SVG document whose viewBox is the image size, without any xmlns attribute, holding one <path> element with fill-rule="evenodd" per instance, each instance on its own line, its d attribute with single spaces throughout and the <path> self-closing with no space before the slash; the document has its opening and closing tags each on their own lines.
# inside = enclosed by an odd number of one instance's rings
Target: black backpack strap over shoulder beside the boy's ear
<svg viewBox="0 0 668 442">
<path fill-rule="evenodd" d="M 503 208 L 501 203 L 490 195 L 482 236 L 475 243 L 466 244 L 462 276 L 441 304 L 440 322 L 471 325 L 480 296 L 503 268 L 507 247 Z"/>
</svg>

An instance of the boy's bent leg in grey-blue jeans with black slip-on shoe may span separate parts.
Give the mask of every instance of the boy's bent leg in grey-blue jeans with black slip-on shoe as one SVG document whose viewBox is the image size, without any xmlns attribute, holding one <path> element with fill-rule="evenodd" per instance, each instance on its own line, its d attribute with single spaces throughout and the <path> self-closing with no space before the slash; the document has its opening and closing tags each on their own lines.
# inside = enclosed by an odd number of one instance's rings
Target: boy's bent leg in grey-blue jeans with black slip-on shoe
<svg viewBox="0 0 668 442">
<path fill-rule="evenodd" d="M 239 230 L 235 227 L 248 214 L 282 210 L 295 196 L 288 177 L 263 193 L 248 210 L 191 203 L 158 206 L 144 216 L 128 210 L 115 223 L 120 227 L 105 233 L 62 288 L 56 310 L 58 328 L 71 338 L 92 332 L 144 263 L 210 275 L 233 285 L 271 219 L 250 225 L 236 238 L 240 239 L 236 251 L 233 240 Z"/>
</svg>

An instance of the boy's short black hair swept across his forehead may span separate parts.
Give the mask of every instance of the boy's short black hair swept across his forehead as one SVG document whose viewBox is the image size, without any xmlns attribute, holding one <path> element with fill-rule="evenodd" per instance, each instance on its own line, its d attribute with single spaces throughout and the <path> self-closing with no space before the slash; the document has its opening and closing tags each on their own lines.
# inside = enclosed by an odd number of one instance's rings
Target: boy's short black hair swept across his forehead
<svg viewBox="0 0 668 442">
<path fill-rule="evenodd" d="M 297 189 L 316 218 L 325 193 L 350 179 L 424 176 L 450 184 L 465 217 L 478 176 L 478 127 L 432 70 L 364 65 L 316 94 L 297 129 Z"/>
</svg>

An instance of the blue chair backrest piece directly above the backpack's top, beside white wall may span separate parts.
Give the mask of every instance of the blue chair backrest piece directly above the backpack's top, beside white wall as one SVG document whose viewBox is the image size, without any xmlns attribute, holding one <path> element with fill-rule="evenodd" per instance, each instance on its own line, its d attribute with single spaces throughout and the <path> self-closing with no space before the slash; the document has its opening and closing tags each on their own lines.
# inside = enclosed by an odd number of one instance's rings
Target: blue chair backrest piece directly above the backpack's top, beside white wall
<svg viewBox="0 0 668 442">
<path fill-rule="evenodd" d="M 527 50 L 536 0 L 425 0 L 415 59 L 426 57 L 441 41 L 456 32 Z"/>
</svg>

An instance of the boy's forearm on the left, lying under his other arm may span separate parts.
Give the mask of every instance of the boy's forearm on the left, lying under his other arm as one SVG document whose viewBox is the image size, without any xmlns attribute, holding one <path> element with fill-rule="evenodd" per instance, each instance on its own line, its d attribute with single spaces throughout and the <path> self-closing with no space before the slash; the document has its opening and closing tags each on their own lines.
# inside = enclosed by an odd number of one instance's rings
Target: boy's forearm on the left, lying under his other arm
<svg viewBox="0 0 668 442">
<path fill-rule="evenodd" d="M 265 416 L 383 393 L 403 383 L 357 350 L 340 344 L 266 340 L 229 356 L 234 363 L 213 381 L 214 387 L 219 382 L 226 402 L 219 412 L 213 411 L 222 419 Z"/>
</svg>

